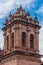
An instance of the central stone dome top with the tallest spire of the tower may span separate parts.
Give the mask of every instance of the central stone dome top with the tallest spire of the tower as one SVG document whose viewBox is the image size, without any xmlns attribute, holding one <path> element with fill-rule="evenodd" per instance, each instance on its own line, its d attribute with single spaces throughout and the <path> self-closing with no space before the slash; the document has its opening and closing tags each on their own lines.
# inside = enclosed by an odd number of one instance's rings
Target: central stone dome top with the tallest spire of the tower
<svg viewBox="0 0 43 65">
<path fill-rule="evenodd" d="M 17 12 L 14 14 L 14 19 L 24 19 L 26 17 L 26 12 L 23 10 L 22 6 L 17 9 Z M 26 19 L 26 18 L 25 18 Z"/>
</svg>

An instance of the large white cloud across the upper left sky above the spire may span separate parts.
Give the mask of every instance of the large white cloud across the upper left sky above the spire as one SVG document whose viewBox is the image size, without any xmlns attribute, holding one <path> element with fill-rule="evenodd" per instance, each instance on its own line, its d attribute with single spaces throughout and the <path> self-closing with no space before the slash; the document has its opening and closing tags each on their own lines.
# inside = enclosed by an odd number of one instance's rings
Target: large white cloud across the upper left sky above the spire
<svg viewBox="0 0 43 65">
<path fill-rule="evenodd" d="M 36 0 L 0 0 L 0 19 L 4 18 L 16 5 L 30 5 L 35 1 Z"/>
</svg>

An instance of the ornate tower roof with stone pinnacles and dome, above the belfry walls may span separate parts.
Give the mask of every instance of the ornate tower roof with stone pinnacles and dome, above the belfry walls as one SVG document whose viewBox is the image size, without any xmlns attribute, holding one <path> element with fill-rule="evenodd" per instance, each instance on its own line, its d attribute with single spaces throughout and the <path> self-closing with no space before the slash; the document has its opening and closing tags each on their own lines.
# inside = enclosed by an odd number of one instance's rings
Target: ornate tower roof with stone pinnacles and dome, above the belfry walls
<svg viewBox="0 0 43 65">
<path fill-rule="evenodd" d="M 38 19 L 37 17 L 34 18 L 34 20 L 32 20 L 32 18 L 30 17 L 30 14 L 29 13 L 26 13 L 25 10 L 22 8 L 22 6 L 20 6 L 16 13 L 14 15 L 11 14 L 10 12 L 10 15 L 8 17 L 8 19 L 6 20 L 5 22 L 5 26 L 8 26 L 12 23 L 15 23 L 15 22 L 22 22 L 22 23 L 25 23 L 26 25 L 32 25 L 32 26 L 35 26 L 37 25 L 38 28 L 40 28 L 39 24 L 38 24 Z M 9 26 L 8 26 L 9 27 Z M 36 26 L 35 26 L 36 27 Z"/>
</svg>

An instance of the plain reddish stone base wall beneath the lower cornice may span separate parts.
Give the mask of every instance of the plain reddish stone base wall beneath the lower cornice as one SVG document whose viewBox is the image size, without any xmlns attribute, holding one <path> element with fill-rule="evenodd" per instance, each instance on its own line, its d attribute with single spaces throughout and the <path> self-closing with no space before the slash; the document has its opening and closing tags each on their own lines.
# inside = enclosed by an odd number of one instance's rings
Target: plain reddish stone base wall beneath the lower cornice
<svg viewBox="0 0 43 65">
<path fill-rule="evenodd" d="M 29 56 L 15 55 L 2 60 L 2 65 L 40 65 L 40 59 Z M 1 63 L 0 63 L 1 65 Z"/>
</svg>

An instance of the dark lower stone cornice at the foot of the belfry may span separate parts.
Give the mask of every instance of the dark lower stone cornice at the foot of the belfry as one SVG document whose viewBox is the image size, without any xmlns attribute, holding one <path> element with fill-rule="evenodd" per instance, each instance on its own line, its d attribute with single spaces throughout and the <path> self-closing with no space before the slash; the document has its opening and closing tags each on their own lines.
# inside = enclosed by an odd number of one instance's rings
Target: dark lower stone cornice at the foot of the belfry
<svg viewBox="0 0 43 65">
<path fill-rule="evenodd" d="M 40 54 L 35 54 L 35 53 L 27 53 L 27 52 L 22 52 L 22 51 L 13 51 L 13 52 L 10 52 L 8 54 L 1 55 L 0 60 L 9 58 L 13 55 L 25 55 L 25 56 L 31 56 L 31 57 L 36 57 L 36 58 L 41 58 L 41 56 L 42 56 Z"/>
</svg>

